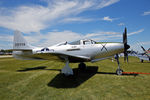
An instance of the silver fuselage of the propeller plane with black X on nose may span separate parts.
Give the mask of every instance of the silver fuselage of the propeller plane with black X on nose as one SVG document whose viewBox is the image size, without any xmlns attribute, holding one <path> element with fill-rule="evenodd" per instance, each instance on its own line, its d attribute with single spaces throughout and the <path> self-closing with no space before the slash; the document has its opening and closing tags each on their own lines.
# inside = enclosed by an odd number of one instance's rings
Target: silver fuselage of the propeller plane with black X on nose
<svg viewBox="0 0 150 100">
<path fill-rule="evenodd" d="M 97 61 L 101 58 L 114 56 L 124 52 L 123 43 L 90 43 L 68 44 L 62 43 L 51 47 L 33 48 L 32 50 L 14 51 L 13 55 L 19 59 L 34 60 L 64 60 L 68 56 L 70 62 Z M 85 57 L 88 59 L 78 59 Z"/>
</svg>

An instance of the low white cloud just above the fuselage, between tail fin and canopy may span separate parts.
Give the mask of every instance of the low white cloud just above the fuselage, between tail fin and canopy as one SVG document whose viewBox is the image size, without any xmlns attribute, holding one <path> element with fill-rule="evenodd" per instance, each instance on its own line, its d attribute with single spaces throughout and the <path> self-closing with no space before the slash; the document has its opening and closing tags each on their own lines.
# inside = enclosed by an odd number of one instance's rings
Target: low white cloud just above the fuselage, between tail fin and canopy
<svg viewBox="0 0 150 100">
<path fill-rule="evenodd" d="M 26 36 L 26 39 L 28 40 L 29 43 L 33 44 L 34 46 L 47 47 L 64 41 L 79 40 L 82 37 L 83 35 L 69 30 L 64 31 L 56 30 L 48 32 L 46 34 L 39 34 L 39 35 L 31 34 Z"/>
</svg>

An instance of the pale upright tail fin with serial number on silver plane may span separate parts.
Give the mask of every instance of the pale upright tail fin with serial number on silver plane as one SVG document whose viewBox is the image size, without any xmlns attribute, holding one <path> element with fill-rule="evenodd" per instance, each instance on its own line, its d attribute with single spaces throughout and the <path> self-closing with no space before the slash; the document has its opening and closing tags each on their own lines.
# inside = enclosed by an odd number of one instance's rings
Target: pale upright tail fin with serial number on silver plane
<svg viewBox="0 0 150 100">
<path fill-rule="evenodd" d="M 13 50 L 32 50 L 20 31 L 14 32 Z"/>
</svg>

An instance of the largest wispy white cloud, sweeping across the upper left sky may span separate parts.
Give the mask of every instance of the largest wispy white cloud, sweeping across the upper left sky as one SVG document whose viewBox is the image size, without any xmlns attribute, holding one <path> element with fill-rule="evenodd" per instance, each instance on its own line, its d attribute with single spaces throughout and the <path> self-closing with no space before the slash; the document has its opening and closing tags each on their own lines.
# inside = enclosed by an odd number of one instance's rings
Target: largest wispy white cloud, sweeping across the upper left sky
<svg viewBox="0 0 150 100">
<path fill-rule="evenodd" d="M 39 32 L 58 24 L 65 18 L 67 21 L 81 21 L 75 17 L 87 10 L 95 10 L 112 5 L 119 0 L 46 0 L 48 6 L 30 5 L 16 8 L 0 9 L 0 27 L 20 30 L 22 32 Z M 73 19 L 74 18 L 74 19 Z M 86 19 L 84 21 L 89 21 Z"/>
</svg>

